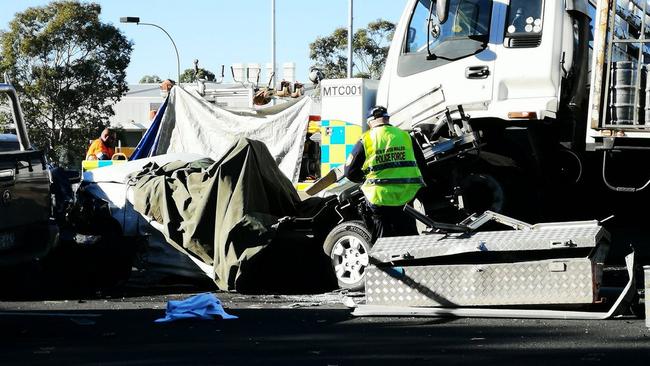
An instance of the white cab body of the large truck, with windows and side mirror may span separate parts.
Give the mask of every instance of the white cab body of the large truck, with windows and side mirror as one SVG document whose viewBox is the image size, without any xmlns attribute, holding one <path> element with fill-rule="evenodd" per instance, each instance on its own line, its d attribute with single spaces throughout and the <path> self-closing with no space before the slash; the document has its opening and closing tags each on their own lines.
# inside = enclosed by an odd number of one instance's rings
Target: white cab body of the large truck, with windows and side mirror
<svg viewBox="0 0 650 366">
<path fill-rule="evenodd" d="M 578 70 L 588 57 L 579 32 L 588 26 L 586 1 L 411 0 L 377 104 L 390 113 L 439 85 L 446 104 L 462 104 L 475 121 L 556 119 L 563 89 L 586 77 L 586 68 Z"/>
</svg>

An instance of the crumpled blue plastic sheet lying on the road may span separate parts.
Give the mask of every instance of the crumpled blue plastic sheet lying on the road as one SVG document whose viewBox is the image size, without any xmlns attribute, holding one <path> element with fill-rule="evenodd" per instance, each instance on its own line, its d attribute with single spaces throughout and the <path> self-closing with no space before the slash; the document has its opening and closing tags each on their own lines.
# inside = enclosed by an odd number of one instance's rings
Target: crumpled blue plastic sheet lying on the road
<svg viewBox="0 0 650 366">
<path fill-rule="evenodd" d="M 167 314 L 164 318 L 156 319 L 156 323 L 167 323 L 179 319 L 212 320 L 219 316 L 222 319 L 237 319 L 226 313 L 221 301 L 214 294 L 206 292 L 194 295 L 185 300 L 167 302 Z"/>
</svg>

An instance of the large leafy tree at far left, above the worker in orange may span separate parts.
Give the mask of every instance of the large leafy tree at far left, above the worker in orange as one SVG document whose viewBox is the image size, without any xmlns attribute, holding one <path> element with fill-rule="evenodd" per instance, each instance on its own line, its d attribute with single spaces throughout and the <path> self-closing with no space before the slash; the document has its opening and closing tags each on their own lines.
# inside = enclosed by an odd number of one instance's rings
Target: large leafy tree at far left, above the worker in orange
<svg viewBox="0 0 650 366">
<path fill-rule="evenodd" d="M 57 1 L 17 13 L 0 33 L 0 72 L 20 94 L 32 142 L 76 162 L 128 90 L 132 43 L 94 3 Z"/>
</svg>

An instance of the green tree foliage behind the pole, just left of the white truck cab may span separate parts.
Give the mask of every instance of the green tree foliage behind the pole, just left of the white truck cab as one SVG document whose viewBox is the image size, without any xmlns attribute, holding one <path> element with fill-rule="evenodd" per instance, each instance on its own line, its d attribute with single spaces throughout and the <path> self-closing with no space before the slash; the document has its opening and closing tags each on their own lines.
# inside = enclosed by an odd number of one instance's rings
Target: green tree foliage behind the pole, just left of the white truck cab
<svg viewBox="0 0 650 366">
<path fill-rule="evenodd" d="M 353 74 L 355 77 L 379 79 L 386 64 L 395 24 L 377 19 L 352 36 Z M 326 78 L 347 76 L 348 30 L 337 28 L 326 37 L 318 37 L 309 44 L 309 58 L 321 68 Z"/>
</svg>

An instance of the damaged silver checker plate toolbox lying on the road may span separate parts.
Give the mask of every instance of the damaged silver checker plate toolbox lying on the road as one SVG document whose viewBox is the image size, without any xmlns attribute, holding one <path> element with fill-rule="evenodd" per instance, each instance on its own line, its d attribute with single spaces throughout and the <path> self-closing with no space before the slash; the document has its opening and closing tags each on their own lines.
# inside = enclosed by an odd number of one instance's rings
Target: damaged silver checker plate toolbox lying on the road
<svg viewBox="0 0 650 366">
<path fill-rule="evenodd" d="M 609 234 L 596 221 L 381 238 L 370 251 L 366 304 L 591 304 L 608 247 Z"/>
</svg>

